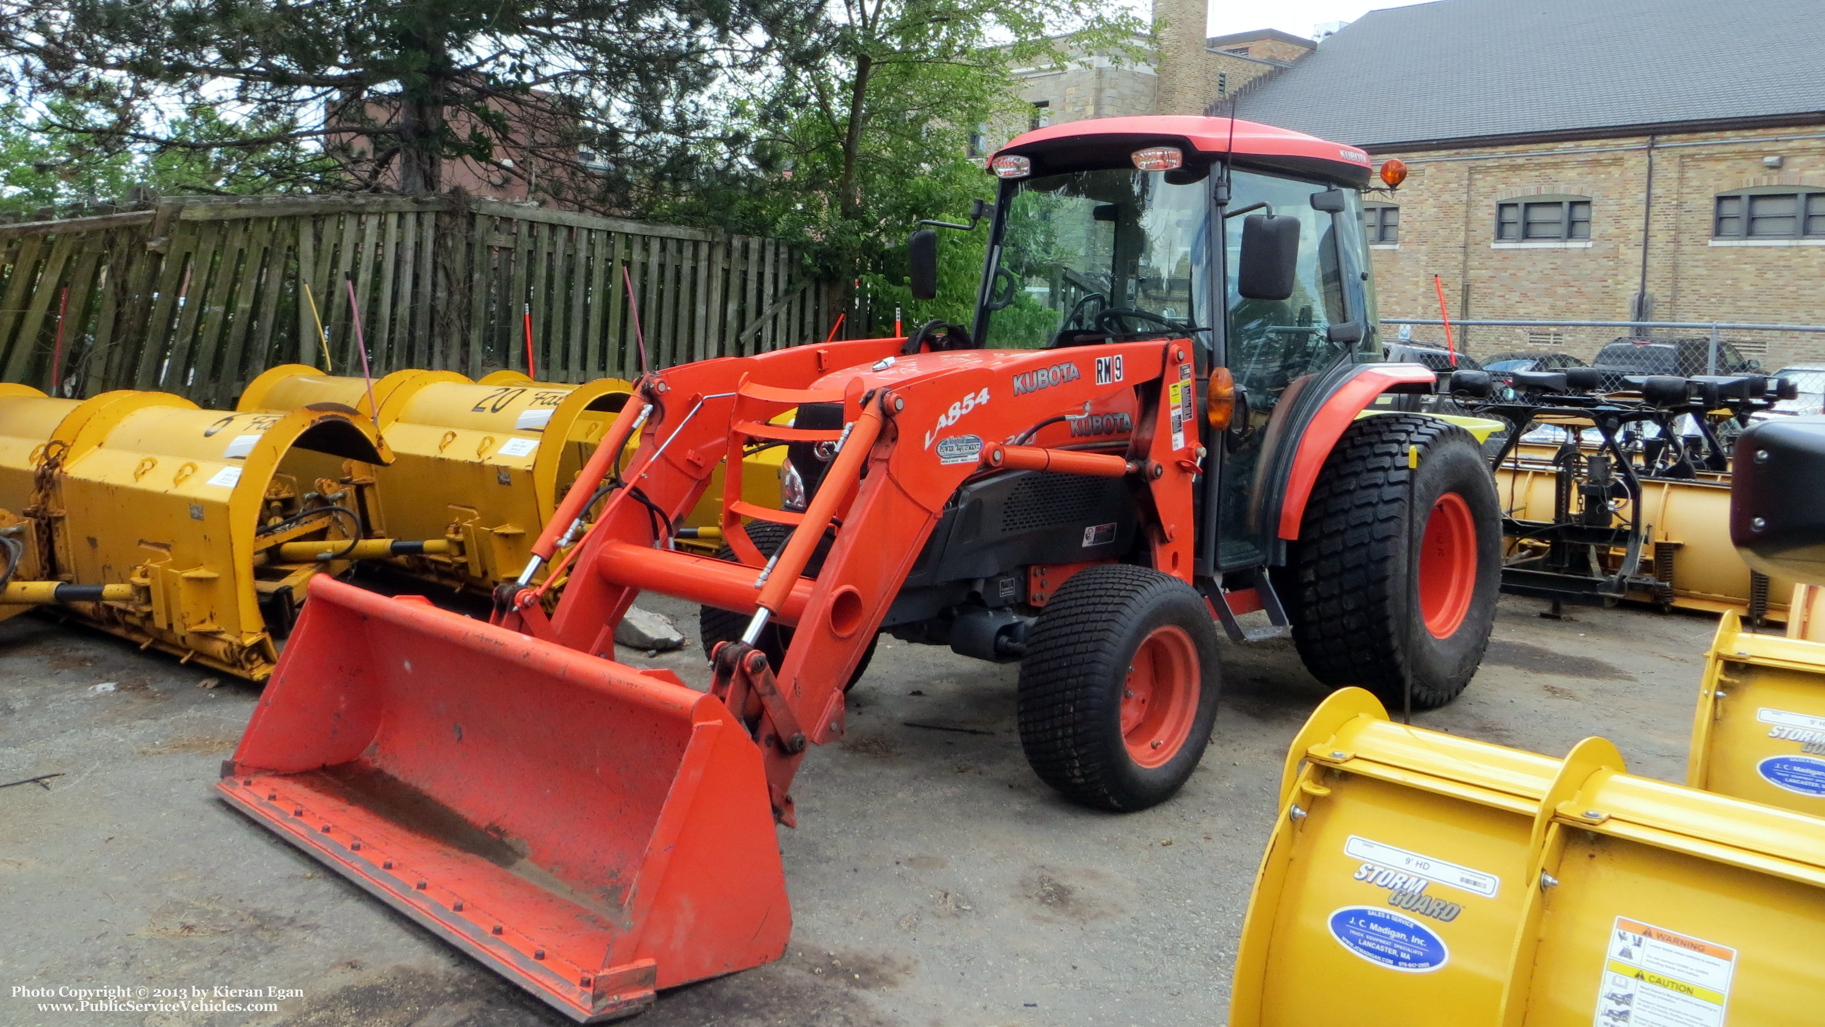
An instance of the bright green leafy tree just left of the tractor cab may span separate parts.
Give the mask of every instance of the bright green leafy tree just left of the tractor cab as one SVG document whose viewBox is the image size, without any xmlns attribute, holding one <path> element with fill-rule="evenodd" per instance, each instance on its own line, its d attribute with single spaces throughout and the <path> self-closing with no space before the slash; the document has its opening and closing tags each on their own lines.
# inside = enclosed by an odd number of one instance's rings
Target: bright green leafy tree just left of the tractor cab
<svg viewBox="0 0 1825 1027">
<path fill-rule="evenodd" d="M 823 277 L 860 285 L 880 317 L 902 306 L 914 321 L 967 323 L 986 232 L 945 237 L 933 303 L 911 301 L 900 241 L 922 217 L 956 221 L 993 195 L 971 139 L 1027 128 L 1015 67 L 1133 53 L 1146 24 L 1093 0 L 832 0 L 810 11 L 766 24 L 781 60 L 739 82 L 721 140 L 739 148 L 721 177 L 701 164 L 703 186 L 666 201 L 664 215 L 799 241 Z"/>
</svg>

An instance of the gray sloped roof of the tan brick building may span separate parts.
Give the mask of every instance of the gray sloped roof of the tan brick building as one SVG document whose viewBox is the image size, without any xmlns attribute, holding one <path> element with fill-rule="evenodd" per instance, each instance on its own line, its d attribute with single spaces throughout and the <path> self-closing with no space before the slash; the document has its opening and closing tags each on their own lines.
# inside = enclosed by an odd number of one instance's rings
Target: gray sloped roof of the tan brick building
<svg viewBox="0 0 1825 1027">
<path fill-rule="evenodd" d="M 1436 0 L 1369 11 L 1237 117 L 1394 144 L 1825 119 L 1820 0 Z M 1226 111 L 1225 111 L 1226 113 Z"/>
</svg>

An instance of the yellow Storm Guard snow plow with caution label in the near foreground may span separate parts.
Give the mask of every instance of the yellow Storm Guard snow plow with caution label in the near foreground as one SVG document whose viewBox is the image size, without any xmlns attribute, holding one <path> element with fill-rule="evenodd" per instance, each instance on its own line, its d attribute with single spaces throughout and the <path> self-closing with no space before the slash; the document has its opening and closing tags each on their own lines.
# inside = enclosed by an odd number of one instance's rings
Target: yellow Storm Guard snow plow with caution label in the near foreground
<svg viewBox="0 0 1825 1027">
<path fill-rule="evenodd" d="M 1392 724 L 1294 739 L 1232 1027 L 1796 1023 L 1825 1003 L 1825 819 Z"/>
</svg>

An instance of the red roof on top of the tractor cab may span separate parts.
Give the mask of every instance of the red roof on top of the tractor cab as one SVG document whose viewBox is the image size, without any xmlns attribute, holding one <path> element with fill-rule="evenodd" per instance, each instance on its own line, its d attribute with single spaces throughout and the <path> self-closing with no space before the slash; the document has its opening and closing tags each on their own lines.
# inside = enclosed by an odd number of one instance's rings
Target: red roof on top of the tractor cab
<svg viewBox="0 0 1825 1027">
<path fill-rule="evenodd" d="M 1128 164 L 1128 153 L 1144 146 L 1177 146 L 1186 162 L 1215 161 L 1234 153 L 1237 164 L 1316 175 L 1340 184 L 1369 184 L 1369 153 L 1303 131 L 1252 120 L 1146 115 L 1086 119 L 1017 135 L 995 157 L 1020 155 L 1033 161 L 1035 175 Z M 991 157 L 993 161 L 993 157 Z"/>
</svg>

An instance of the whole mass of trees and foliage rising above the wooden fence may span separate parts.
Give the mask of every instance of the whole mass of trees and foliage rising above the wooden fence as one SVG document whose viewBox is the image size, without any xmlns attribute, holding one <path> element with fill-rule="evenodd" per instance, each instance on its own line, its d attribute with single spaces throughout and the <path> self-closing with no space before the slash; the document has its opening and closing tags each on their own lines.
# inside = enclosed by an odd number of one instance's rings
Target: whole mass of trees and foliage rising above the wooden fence
<svg viewBox="0 0 1825 1027">
<path fill-rule="evenodd" d="M 482 179 L 794 243 L 852 334 L 969 325 L 987 226 L 942 230 L 925 303 L 907 233 L 995 195 L 971 137 L 1026 130 L 1015 67 L 1146 31 L 1102 0 L 0 0 L 0 210 Z"/>
</svg>

